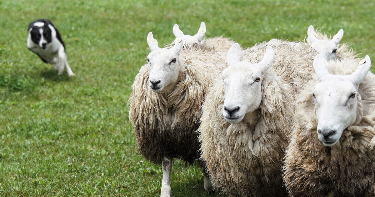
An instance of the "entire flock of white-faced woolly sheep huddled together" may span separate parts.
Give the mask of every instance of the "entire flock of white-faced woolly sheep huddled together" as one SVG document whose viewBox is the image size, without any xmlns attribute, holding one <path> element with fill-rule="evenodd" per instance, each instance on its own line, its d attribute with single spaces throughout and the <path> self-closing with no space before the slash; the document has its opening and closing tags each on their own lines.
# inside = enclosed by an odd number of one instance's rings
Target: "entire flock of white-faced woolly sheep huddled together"
<svg viewBox="0 0 375 197">
<path fill-rule="evenodd" d="M 308 29 L 307 42 L 272 39 L 243 50 L 228 38 L 176 24 L 150 54 L 129 98 L 139 153 L 163 171 L 198 161 L 204 189 L 230 196 L 375 196 L 375 76 Z"/>
</svg>

